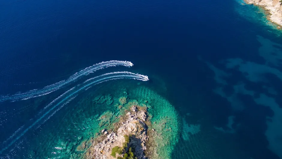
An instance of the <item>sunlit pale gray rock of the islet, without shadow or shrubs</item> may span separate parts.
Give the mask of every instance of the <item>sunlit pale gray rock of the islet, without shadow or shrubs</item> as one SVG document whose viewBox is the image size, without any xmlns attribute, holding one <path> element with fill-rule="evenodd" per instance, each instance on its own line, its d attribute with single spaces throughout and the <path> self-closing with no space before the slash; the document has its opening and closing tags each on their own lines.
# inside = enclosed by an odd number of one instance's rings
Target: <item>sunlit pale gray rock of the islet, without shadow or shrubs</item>
<svg viewBox="0 0 282 159">
<path fill-rule="evenodd" d="M 130 113 L 130 112 L 128 112 Z M 142 111 L 134 113 L 131 116 L 126 116 L 125 121 L 122 126 L 118 128 L 115 132 L 108 132 L 104 129 L 101 132 L 107 136 L 104 136 L 103 140 L 100 140 L 99 143 L 93 145 L 94 151 L 91 151 L 90 155 L 87 156 L 87 159 L 113 159 L 110 155 L 113 147 L 119 146 L 122 147 L 122 144 L 125 142 L 124 135 L 133 135 L 130 137 L 130 147 L 134 147 L 134 154 L 138 159 L 146 159 L 144 155 L 144 150 L 146 150 L 146 141 L 148 141 L 147 136 L 147 125 L 142 121 L 141 118 L 137 119 L 137 114 L 141 114 L 142 118 L 146 118 L 146 114 Z M 103 137 L 103 136 L 102 136 Z M 123 155 L 118 155 L 122 157 Z"/>
</svg>

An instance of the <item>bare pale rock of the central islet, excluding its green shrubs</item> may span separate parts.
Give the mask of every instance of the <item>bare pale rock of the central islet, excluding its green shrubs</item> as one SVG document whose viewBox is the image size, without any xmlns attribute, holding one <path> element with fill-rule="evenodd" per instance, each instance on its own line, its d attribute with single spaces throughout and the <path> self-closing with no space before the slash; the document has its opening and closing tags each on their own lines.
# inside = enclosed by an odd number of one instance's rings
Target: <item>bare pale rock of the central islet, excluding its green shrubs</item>
<svg viewBox="0 0 282 159">
<path fill-rule="evenodd" d="M 120 121 L 115 123 L 115 129 L 101 131 L 101 135 L 92 143 L 87 150 L 85 158 L 87 159 L 114 159 L 113 149 L 119 147 L 122 153 L 114 153 L 116 158 L 124 157 L 129 148 L 134 149 L 134 155 L 138 159 L 145 159 L 144 151 L 146 148 L 147 125 L 144 123 L 147 119 L 146 111 L 132 106 L 131 111 L 125 116 L 120 117 Z M 129 137 L 129 140 L 126 139 Z M 128 142 L 128 143 L 127 143 Z"/>
</svg>

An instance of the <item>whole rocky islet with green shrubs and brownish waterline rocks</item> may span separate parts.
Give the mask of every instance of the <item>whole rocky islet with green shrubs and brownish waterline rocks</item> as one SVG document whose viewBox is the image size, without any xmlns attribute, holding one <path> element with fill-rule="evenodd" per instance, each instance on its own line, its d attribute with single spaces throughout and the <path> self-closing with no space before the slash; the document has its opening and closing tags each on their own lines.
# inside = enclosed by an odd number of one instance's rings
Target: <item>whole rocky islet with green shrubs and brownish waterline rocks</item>
<svg viewBox="0 0 282 159">
<path fill-rule="evenodd" d="M 103 129 L 95 137 L 77 146 L 77 151 L 84 152 L 83 159 L 146 159 L 155 155 L 155 152 L 151 152 L 155 148 L 148 149 L 156 145 L 153 140 L 156 133 L 153 133 L 153 128 L 148 128 L 152 123 L 147 106 L 131 102 L 128 109 L 122 110 L 127 99 L 119 98 L 119 103 L 118 108 L 124 113 L 115 118 L 118 122 L 114 122 L 113 127 L 109 127 L 111 129 Z M 109 114 L 103 114 L 99 120 L 107 119 L 108 116 Z M 150 137 L 152 139 L 149 140 Z"/>
</svg>

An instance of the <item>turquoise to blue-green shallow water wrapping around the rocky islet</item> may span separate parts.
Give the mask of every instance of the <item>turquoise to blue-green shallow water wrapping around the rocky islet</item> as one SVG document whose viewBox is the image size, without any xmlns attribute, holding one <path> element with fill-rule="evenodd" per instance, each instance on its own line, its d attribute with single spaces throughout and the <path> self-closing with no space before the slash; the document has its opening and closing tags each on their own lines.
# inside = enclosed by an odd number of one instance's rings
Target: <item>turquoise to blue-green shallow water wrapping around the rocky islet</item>
<svg viewBox="0 0 282 159">
<path fill-rule="evenodd" d="M 28 153 L 24 153 L 26 158 L 79 158 L 78 155 L 82 152 L 77 151 L 77 146 L 95 137 L 95 134 L 102 129 L 109 129 L 109 125 L 115 121 L 115 116 L 120 115 L 116 104 L 119 103 L 118 97 L 122 96 L 126 96 L 128 100 L 137 99 L 140 104 L 147 101 L 149 113 L 153 116 L 152 122 L 159 123 L 166 117 L 171 119 L 165 128 L 171 128 L 172 131 L 164 135 L 165 139 L 158 140 L 163 147 L 159 150 L 160 158 L 170 158 L 174 145 L 179 140 L 178 114 L 174 107 L 151 90 L 149 85 L 135 81 L 115 81 L 98 89 L 90 88 L 82 96 L 84 98 L 72 101 L 67 107 L 62 108 L 63 114 L 58 112 L 56 117 L 49 119 L 48 123 L 35 131 L 38 135 L 36 138 L 29 139 Z M 95 99 L 99 100 L 96 102 Z M 114 117 L 99 121 L 99 118 L 107 112 L 111 112 Z M 161 132 L 157 124 L 152 127 Z M 167 143 L 162 145 L 164 140 L 168 141 L 169 145 Z M 38 145 L 38 143 L 44 144 Z"/>
</svg>

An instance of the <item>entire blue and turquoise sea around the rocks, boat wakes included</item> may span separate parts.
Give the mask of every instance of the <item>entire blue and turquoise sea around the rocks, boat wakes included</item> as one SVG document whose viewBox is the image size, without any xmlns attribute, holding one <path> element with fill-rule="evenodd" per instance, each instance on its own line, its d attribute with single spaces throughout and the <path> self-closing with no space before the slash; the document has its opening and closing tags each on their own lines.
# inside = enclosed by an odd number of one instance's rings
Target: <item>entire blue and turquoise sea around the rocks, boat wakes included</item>
<svg viewBox="0 0 282 159">
<path fill-rule="evenodd" d="M 124 95 L 174 119 L 160 158 L 281 159 L 276 27 L 241 0 L 1 0 L 0 159 L 78 159 Z"/>
</svg>

